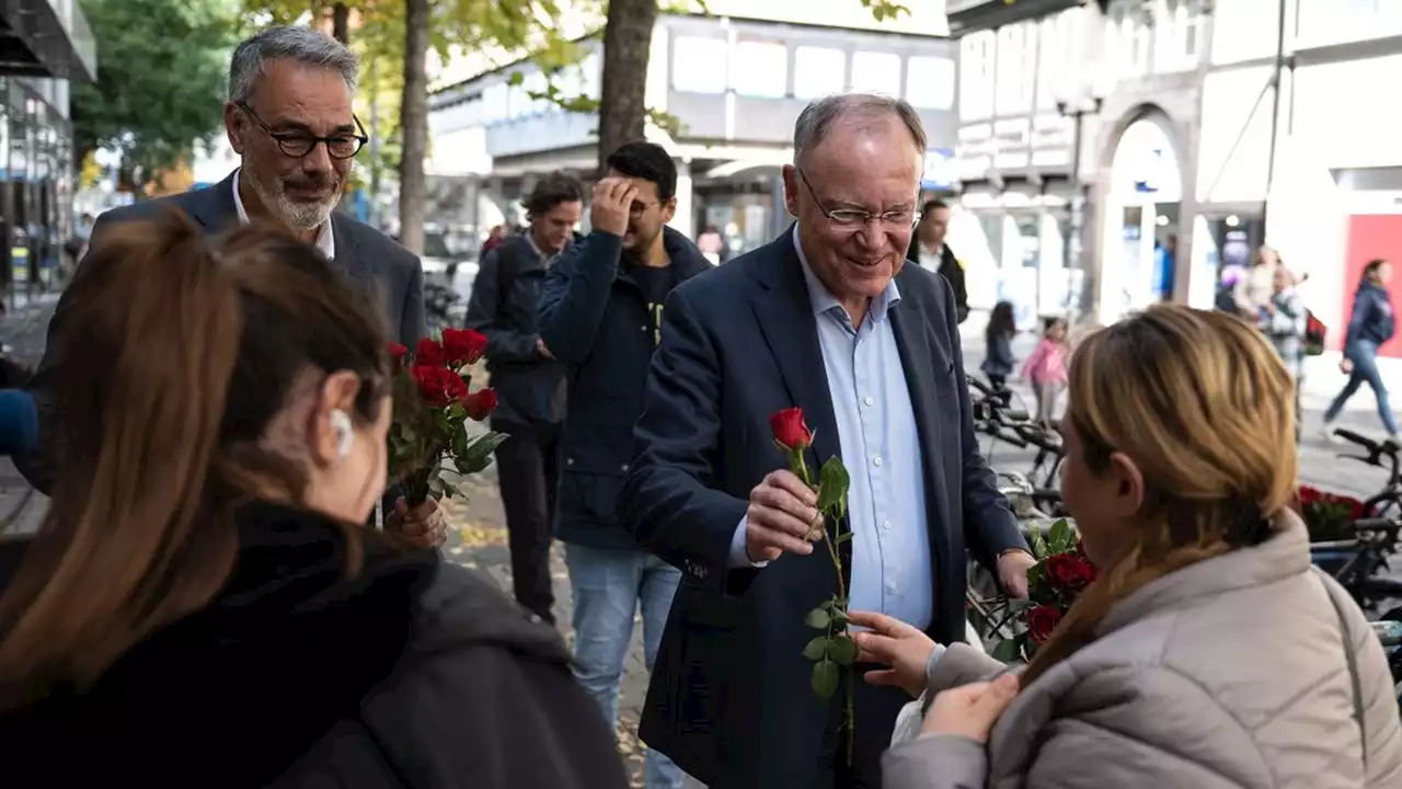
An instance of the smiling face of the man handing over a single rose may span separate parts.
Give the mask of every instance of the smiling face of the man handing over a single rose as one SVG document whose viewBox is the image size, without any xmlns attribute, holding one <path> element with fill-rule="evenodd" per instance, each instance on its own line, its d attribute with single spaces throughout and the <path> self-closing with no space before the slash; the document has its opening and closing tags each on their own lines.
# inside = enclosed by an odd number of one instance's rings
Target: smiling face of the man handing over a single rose
<svg viewBox="0 0 1402 789">
<path fill-rule="evenodd" d="M 900 118 L 854 115 L 834 121 L 799 167 L 784 168 L 784 199 L 799 219 L 803 254 L 859 323 L 869 299 L 886 289 L 906 261 L 921 152 Z M 887 219 L 847 225 L 830 219 L 834 212 L 885 213 Z"/>
</svg>

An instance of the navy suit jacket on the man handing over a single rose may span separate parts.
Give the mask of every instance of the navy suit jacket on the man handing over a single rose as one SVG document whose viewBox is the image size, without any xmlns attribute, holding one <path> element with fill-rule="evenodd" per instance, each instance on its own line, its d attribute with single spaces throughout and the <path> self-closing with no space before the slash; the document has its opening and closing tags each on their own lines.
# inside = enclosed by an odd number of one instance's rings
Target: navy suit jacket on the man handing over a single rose
<svg viewBox="0 0 1402 789">
<path fill-rule="evenodd" d="M 949 284 L 907 264 L 896 285 L 937 587 L 928 632 L 949 643 L 965 637 L 966 549 L 991 566 L 1025 542 L 979 453 Z M 826 552 L 729 569 L 750 490 L 785 466 L 768 417 L 791 406 L 803 409 L 819 458 L 841 455 L 816 316 L 784 233 L 672 292 L 620 496 L 638 541 L 683 570 L 642 738 L 726 789 L 809 786 L 837 709 L 813 695 L 802 656 L 815 635 L 803 615 L 836 592 Z"/>
</svg>

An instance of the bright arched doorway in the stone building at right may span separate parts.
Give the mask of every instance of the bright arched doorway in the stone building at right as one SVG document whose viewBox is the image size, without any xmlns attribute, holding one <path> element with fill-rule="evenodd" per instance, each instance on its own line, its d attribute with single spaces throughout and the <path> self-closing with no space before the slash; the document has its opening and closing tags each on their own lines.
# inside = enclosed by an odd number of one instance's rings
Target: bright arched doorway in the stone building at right
<svg viewBox="0 0 1402 789">
<path fill-rule="evenodd" d="M 1161 112 L 1124 128 L 1105 194 L 1099 313 L 1113 321 L 1173 298 L 1183 174 Z"/>
</svg>

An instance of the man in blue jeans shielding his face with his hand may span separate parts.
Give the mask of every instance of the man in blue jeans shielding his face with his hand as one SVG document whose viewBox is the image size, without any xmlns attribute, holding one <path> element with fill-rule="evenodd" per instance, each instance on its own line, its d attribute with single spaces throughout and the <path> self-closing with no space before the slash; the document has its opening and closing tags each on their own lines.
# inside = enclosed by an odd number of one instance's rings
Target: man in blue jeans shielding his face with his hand
<svg viewBox="0 0 1402 789">
<path fill-rule="evenodd" d="M 569 368 L 555 535 L 565 542 L 575 595 L 575 672 L 610 724 L 634 612 L 641 605 L 652 668 L 681 580 L 615 514 L 662 302 L 679 282 L 711 268 L 686 236 L 666 227 L 677 209 L 676 188 L 676 164 L 662 147 L 635 142 L 614 152 L 593 190 L 593 232 L 550 267 L 540 299 L 541 340 Z M 649 789 L 680 788 L 681 781 L 670 760 L 648 754 Z"/>
</svg>

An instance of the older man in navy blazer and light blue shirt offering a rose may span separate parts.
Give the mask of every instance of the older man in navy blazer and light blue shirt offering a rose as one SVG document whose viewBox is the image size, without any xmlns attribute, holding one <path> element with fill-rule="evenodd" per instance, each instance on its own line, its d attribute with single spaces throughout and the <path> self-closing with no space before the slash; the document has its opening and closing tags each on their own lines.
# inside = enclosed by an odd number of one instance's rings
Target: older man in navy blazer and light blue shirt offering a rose
<svg viewBox="0 0 1402 789">
<path fill-rule="evenodd" d="M 904 265 L 925 136 L 903 101 L 824 98 L 784 168 L 791 232 L 667 299 L 620 511 L 683 570 L 642 738 L 712 789 L 879 786 L 903 691 L 819 701 L 803 615 L 837 591 L 770 414 L 799 406 L 851 473 L 852 609 L 965 637 L 965 555 L 1026 591 L 1030 555 L 979 453 L 949 284 Z M 859 671 L 868 667 L 858 665 Z"/>
</svg>

